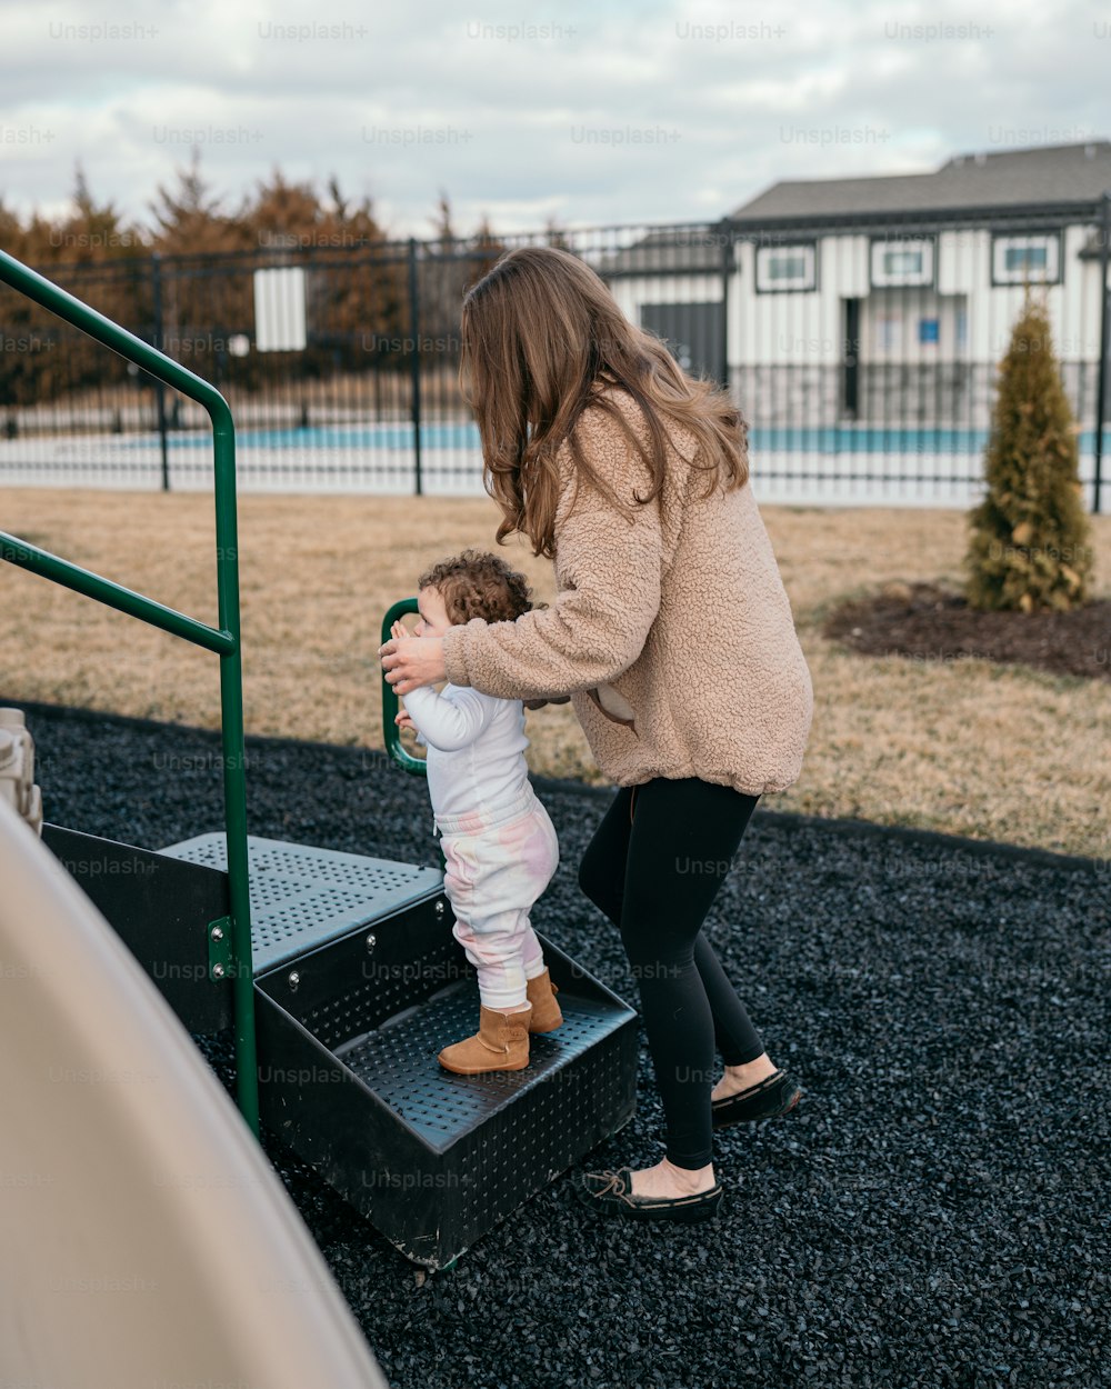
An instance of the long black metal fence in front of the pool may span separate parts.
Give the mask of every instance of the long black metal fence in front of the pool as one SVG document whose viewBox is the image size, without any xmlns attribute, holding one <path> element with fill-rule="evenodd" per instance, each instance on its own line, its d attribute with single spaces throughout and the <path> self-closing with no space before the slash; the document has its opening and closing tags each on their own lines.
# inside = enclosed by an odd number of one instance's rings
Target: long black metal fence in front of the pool
<svg viewBox="0 0 1111 1389">
<path fill-rule="evenodd" d="M 997 364 L 1030 282 L 1099 510 L 1110 229 L 1105 197 L 482 240 L 274 238 L 49 274 L 228 396 L 244 489 L 479 493 L 460 303 L 504 249 L 561 244 L 683 367 L 728 385 L 761 500 L 930 506 L 982 490 Z M 207 422 L 189 401 L 7 289 L 0 339 L 0 482 L 210 485 Z"/>
</svg>

